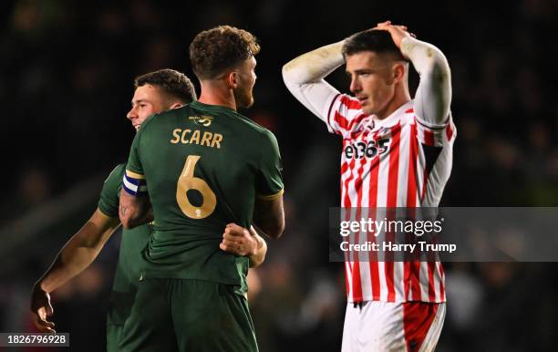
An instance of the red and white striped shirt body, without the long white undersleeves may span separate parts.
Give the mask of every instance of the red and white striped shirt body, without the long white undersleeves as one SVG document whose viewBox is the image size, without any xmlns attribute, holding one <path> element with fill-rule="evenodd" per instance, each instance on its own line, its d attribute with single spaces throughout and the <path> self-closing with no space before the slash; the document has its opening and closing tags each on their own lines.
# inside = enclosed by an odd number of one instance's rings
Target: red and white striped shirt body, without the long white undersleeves
<svg viewBox="0 0 558 352">
<path fill-rule="evenodd" d="M 456 136 L 450 114 L 444 125 L 432 126 L 415 115 L 409 101 L 380 120 L 365 114 L 356 98 L 336 94 L 329 98 L 323 116 L 328 129 L 343 138 L 343 208 L 369 212 L 380 207 L 438 206 Z M 369 146 L 374 148 L 367 150 Z M 356 214 L 361 216 L 373 215 Z M 382 262 L 357 255 L 345 263 L 349 302 L 446 301 L 441 263 Z"/>
</svg>

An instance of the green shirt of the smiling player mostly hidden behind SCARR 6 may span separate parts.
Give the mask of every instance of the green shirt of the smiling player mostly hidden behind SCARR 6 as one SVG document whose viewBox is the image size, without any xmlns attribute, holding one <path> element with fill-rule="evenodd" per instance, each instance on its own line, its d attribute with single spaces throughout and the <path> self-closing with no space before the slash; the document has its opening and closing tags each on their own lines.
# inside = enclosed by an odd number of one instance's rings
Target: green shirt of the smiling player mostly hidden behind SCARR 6
<svg viewBox="0 0 558 352">
<path fill-rule="evenodd" d="M 103 184 L 98 209 L 105 215 L 119 217 L 119 196 L 126 164 L 119 164 Z M 114 274 L 114 284 L 109 306 L 109 325 L 122 325 L 129 316 L 130 306 L 140 283 L 145 260 L 142 257 L 150 241 L 151 225 L 145 224 L 123 230 L 120 239 L 119 261 Z"/>
</svg>

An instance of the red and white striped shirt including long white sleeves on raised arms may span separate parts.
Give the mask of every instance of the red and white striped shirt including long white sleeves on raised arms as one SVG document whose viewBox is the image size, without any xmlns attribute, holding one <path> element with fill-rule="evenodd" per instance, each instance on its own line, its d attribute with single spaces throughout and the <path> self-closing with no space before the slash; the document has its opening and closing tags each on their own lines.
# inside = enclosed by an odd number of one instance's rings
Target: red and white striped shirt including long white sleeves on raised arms
<svg viewBox="0 0 558 352">
<path fill-rule="evenodd" d="M 401 54 L 420 76 L 417 100 L 380 120 L 365 114 L 356 98 L 340 94 L 324 79 L 345 62 L 344 43 L 319 47 L 283 67 L 284 83 L 294 98 L 343 138 L 342 207 L 348 208 L 351 218 L 371 219 L 386 208 L 438 206 L 449 179 L 456 135 L 449 112 L 447 59 L 429 43 L 412 36 L 401 39 Z M 361 238 L 351 241 L 363 243 L 367 238 L 362 237 L 369 235 L 353 233 Z M 349 302 L 446 301 L 439 262 L 395 262 L 367 255 L 377 254 L 346 255 Z"/>
</svg>

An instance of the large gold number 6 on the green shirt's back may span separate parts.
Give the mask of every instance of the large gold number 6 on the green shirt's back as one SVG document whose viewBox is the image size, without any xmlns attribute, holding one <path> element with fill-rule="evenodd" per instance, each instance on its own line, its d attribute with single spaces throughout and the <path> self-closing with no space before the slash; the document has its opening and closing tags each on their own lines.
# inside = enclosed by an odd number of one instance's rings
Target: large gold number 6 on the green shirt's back
<svg viewBox="0 0 558 352">
<path fill-rule="evenodd" d="M 196 163 L 200 158 L 199 155 L 189 155 L 186 158 L 186 163 L 181 171 L 176 187 L 176 202 L 178 202 L 184 215 L 191 219 L 203 219 L 210 216 L 217 205 L 215 193 L 212 192 L 207 182 L 193 175 Z M 202 193 L 202 205 L 194 206 L 191 204 L 186 194 L 190 190 Z"/>
</svg>

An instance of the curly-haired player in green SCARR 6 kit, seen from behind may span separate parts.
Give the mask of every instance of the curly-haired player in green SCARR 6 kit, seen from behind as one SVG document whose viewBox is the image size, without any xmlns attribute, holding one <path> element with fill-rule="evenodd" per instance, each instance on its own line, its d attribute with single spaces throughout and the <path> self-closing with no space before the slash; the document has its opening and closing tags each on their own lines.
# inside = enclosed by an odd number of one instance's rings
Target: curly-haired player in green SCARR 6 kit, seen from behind
<svg viewBox="0 0 558 352">
<path fill-rule="evenodd" d="M 227 223 L 254 223 L 273 238 L 284 230 L 277 141 L 236 111 L 253 104 L 259 50 L 232 26 L 200 33 L 190 46 L 200 99 L 146 120 L 132 143 L 120 221 L 143 223 L 152 205 L 156 223 L 125 350 L 166 351 L 176 336 L 180 351 L 257 351 L 248 258 L 216 247 Z"/>
</svg>

